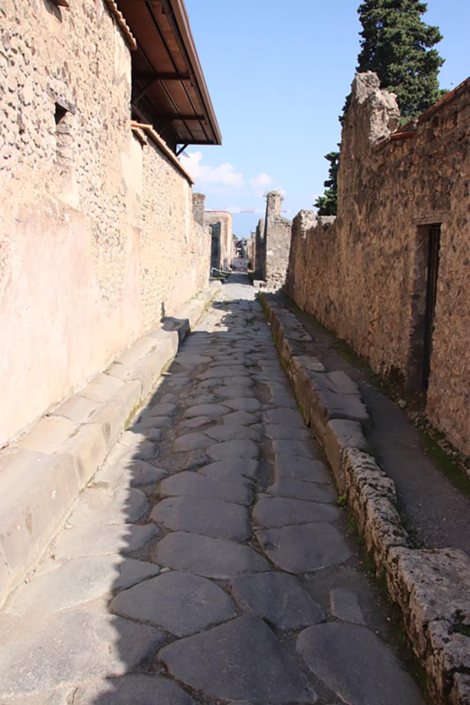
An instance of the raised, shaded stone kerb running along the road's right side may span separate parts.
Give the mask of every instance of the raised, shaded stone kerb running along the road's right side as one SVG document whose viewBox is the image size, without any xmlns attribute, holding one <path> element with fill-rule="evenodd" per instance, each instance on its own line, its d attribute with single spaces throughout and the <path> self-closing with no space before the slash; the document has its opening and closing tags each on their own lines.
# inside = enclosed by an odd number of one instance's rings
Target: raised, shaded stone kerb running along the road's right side
<svg viewBox="0 0 470 705">
<path fill-rule="evenodd" d="M 367 441 L 369 414 L 357 384 L 306 354 L 311 337 L 275 294 L 260 298 L 304 419 L 323 446 L 378 577 L 385 577 L 400 608 L 433 703 L 470 705 L 469 557 L 456 548 L 413 548 L 395 483 Z"/>
</svg>

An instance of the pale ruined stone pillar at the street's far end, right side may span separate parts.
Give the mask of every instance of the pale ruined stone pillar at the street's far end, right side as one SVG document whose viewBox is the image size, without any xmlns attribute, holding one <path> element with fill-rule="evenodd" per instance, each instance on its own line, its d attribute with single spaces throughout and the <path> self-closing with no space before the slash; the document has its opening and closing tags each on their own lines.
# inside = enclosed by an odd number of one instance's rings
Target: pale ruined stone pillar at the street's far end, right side
<svg viewBox="0 0 470 705">
<path fill-rule="evenodd" d="M 264 226 L 264 279 L 267 285 L 273 288 L 284 286 L 289 263 L 292 223 L 281 216 L 282 203 L 283 197 L 277 191 L 268 193 Z"/>
</svg>

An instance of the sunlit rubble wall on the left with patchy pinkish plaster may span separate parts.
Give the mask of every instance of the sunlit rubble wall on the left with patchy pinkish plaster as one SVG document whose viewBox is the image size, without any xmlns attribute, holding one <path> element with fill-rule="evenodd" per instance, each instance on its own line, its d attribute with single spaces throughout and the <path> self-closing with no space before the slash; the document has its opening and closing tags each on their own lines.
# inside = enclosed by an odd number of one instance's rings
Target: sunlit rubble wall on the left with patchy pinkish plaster
<svg viewBox="0 0 470 705">
<path fill-rule="evenodd" d="M 131 130 L 104 1 L 5 0 L 0 27 L 4 443 L 206 286 L 210 237 L 188 178 Z"/>
</svg>

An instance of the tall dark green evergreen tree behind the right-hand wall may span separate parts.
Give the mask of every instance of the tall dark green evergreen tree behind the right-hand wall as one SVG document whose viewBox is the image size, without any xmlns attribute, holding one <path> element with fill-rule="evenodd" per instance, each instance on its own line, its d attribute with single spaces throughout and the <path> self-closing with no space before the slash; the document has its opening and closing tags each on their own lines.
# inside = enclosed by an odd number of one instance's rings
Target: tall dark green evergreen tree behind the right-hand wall
<svg viewBox="0 0 470 705">
<path fill-rule="evenodd" d="M 418 116 L 445 93 L 438 82 L 444 59 L 432 49 L 443 37 L 439 27 L 426 25 L 421 19 L 427 8 L 419 0 L 365 0 L 357 11 L 362 39 L 356 70 L 374 71 L 381 87 L 397 95 L 404 121 Z M 349 103 L 350 96 L 342 109 L 341 123 Z M 331 154 L 338 153 L 326 154 L 328 161 Z M 338 168 L 333 178 L 337 173 Z M 338 186 L 330 183 L 331 176 L 330 170 L 325 194 L 316 200 L 315 207 L 326 206 L 328 214 L 335 214 Z"/>
</svg>

